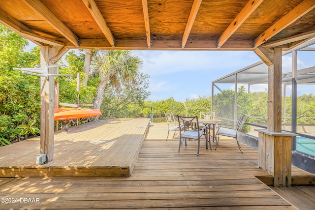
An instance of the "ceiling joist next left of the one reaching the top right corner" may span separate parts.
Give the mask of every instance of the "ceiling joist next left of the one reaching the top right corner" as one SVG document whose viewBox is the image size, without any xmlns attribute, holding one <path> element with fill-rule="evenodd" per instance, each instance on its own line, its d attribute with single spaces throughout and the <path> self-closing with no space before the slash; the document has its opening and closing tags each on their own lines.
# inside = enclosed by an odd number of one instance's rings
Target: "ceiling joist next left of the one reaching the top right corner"
<svg viewBox="0 0 315 210">
<path fill-rule="evenodd" d="M 218 39 L 218 48 L 246 21 L 264 0 L 249 0 Z"/>
</svg>

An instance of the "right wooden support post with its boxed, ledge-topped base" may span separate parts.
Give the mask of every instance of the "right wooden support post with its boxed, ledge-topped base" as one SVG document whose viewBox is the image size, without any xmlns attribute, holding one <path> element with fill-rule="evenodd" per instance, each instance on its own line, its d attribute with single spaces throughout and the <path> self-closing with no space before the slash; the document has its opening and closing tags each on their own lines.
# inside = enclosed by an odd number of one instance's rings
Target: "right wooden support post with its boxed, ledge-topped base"
<svg viewBox="0 0 315 210">
<path fill-rule="evenodd" d="M 258 167 L 273 176 L 274 186 L 291 186 L 291 137 L 295 134 L 282 131 L 282 48 L 259 53 L 269 62 L 263 60 L 268 65 L 268 126 L 267 130 L 256 129 Z"/>
</svg>

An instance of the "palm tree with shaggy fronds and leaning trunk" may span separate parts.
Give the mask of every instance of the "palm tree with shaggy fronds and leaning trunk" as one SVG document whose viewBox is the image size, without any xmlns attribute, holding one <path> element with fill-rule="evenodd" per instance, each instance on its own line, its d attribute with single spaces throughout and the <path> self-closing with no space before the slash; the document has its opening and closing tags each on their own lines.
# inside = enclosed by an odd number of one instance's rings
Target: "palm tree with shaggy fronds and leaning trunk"
<svg viewBox="0 0 315 210">
<path fill-rule="evenodd" d="M 124 81 L 134 81 L 139 74 L 142 60 L 137 56 L 131 56 L 128 50 L 96 50 L 93 65 L 98 72 L 100 82 L 96 89 L 94 108 L 100 109 L 104 99 L 104 90 L 111 81 L 117 89 L 118 78 Z"/>
</svg>

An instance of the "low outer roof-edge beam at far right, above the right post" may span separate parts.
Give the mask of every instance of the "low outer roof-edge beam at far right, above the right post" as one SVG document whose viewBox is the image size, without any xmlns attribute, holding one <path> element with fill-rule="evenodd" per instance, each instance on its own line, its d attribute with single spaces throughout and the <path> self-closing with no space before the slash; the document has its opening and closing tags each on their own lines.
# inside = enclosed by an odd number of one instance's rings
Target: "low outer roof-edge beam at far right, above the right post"
<svg viewBox="0 0 315 210">
<path fill-rule="evenodd" d="M 274 48 L 274 47 L 288 44 L 291 42 L 296 42 L 296 41 L 301 41 L 301 40 L 305 40 L 308 38 L 312 38 L 314 36 L 315 36 L 315 30 L 312 30 L 312 31 L 308 31 L 305 33 L 300 33 L 298 35 L 290 36 L 290 37 L 287 37 L 284 39 L 279 39 L 277 41 L 269 42 L 267 44 L 262 44 L 262 45 L 260 45 L 260 48 Z"/>
</svg>

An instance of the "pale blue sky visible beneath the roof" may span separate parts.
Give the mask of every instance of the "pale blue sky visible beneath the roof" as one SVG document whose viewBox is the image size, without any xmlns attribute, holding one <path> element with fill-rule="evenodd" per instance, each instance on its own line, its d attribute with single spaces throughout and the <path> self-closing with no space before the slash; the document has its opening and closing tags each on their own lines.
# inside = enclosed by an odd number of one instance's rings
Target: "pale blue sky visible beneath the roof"
<svg viewBox="0 0 315 210">
<path fill-rule="evenodd" d="M 30 43 L 26 50 L 34 46 Z M 148 99 L 153 101 L 169 97 L 182 101 L 211 96 L 212 81 L 260 61 L 252 51 L 135 50 L 132 53 L 143 60 L 141 71 L 150 75 L 148 91 L 151 95 Z M 315 52 L 298 51 L 298 69 L 315 66 L 314 57 Z M 291 63 L 291 54 L 283 57 L 283 72 L 291 71 Z M 234 89 L 234 85 L 225 85 L 224 89 Z M 251 87 L 251 91 L 266 89 L 266 85 Z M 299 85 L 298 95 L 315 94 L 314 90 L 314 86 Z M 290 95 L 290 87 L 287 87 L 286 92 L 286 95 Z"/>
</svg>

